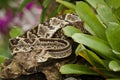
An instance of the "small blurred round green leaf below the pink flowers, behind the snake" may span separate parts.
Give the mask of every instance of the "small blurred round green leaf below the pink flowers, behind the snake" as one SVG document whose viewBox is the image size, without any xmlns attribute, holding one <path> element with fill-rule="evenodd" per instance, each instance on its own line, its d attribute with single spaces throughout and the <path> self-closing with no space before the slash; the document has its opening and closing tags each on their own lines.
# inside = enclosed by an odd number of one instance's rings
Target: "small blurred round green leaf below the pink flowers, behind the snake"
<svg viewBox="0 0 120 80">
<path fill-rule="evenodd" d="M 11 30 L 10 30 L 10 37 L 11 38 L 15 38 L 15 37 L 17 37 L 17 36 L 20 36 L 20 35 L 22 35 L 24 32 L 23 32 L 23 30 L 21 29 L 21 28 L 19 28 L 19 27 L 13 27 Z"/>
</svg>

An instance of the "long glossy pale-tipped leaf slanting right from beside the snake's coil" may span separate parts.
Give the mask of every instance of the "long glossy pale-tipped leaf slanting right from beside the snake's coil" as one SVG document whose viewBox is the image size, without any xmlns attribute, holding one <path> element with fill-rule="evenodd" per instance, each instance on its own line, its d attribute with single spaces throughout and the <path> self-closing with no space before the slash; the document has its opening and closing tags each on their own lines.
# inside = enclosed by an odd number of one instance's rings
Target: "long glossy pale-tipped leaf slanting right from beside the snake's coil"
<svg viewBox="0 0 120 80">
<path fill-rule="evenodd" d="M 115 54 L 112 53 L 108 43 L 102 39 L 82 33 L 75 33 L 72 38 L 75 42 L 86 45 L 107 60 L 117 59 Z"/>
</svg>

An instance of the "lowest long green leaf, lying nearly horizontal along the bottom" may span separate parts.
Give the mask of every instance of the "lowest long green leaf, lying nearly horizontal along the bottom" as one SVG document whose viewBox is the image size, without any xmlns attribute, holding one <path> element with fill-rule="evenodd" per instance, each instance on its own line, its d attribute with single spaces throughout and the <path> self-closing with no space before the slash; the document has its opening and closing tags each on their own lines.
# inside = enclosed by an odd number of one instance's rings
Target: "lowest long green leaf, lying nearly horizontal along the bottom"
<svg viewBox="0 0 120 80">
<path fill-rule="evenodd" d="M 99 72 L 99 71 L 100 72 Z M 60 68 L 62 74 L 85 74 L 85 75 L 102 75 L 107 77 L 119 77 L 119 74 L 106 70 L 105 68 L 94 68 L 87 65 L 66 64 Z"/>
</svg>

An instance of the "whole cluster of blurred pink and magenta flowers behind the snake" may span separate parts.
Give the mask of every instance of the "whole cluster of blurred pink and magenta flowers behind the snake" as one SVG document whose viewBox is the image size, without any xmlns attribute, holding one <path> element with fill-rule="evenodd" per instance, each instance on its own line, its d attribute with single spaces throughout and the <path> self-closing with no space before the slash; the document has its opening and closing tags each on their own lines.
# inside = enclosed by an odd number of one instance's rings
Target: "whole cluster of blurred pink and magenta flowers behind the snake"
<svg viewBox="0 0 120 80">
<path fill-rule="evenodd" d="M 13 26 L 20 26 L 24 31 L 26 31 L 38 25 L 42 8 L 40 5 L 36 5 L 35 1 L 28 3 L 21 12 L 15 12 L 12 8 L 9 10 L 1 9 L 0 32 L 4 34 L 8 33 L 9 28 Z"/>
</svg>

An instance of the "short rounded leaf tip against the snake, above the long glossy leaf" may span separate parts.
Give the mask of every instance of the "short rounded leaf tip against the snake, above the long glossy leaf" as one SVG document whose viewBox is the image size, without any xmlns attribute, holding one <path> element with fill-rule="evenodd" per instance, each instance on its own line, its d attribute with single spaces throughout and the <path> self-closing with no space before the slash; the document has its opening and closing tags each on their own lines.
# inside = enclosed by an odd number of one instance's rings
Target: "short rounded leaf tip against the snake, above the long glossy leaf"
<svg viewBox="0 0 120 80">
<path fill-rule="evenodd" d="M 71 37 L 74 33 L 81 33 L 80 29 L 77 29 L 74 26 L 66 26 L 66 27 L 64 27 L 63 32 L 68 37 Z"/>
</svg>

